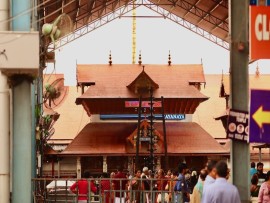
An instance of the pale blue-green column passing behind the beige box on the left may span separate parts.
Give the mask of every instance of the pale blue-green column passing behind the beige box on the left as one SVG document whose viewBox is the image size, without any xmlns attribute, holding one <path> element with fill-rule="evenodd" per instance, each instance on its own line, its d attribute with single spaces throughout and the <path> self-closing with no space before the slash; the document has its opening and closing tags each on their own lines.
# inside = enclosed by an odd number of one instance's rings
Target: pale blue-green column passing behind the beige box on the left
<svg viewBox="0 0 270 203">
<path fill-rule="evenodd" d="M 30 31 L 31 0 L 11 0 L 12 31 Z M 17 17 L 20 15 L 19 17 Z M 25 60 L 32 60 L 26 58 Z M 20 73 L 20 72 L 18 72 Z M 15 76 L 15 77 L 14 77 Z M 13 87 L 13 159 L 12 159 L 12 202 L 32 202 L 32 182 L 35 173 L 33 97 L 31 85 L 33 76 L 18 74 L 12 76 Z M 30 79 L 30 80 L 29 80 Z"/>
</svg>

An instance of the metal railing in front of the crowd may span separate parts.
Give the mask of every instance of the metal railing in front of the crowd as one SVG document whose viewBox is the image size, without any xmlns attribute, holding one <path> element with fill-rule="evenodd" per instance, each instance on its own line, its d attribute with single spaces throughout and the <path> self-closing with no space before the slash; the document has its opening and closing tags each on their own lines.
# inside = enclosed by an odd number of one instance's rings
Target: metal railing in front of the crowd
<svg viewBox="0 0 270 203">
<path fill-rule="evenodd" d="M 182 192 L 174 191 L 176 179 L 89 178 L 87 194 L 79 194 L 77 187 L 71 191 L 70 186 L 80 180 L 33 179 L 34 203 L 77 203 L 80 199 L 87 199 L 88 203 L 114 203 L 116 197 L 122 197 L 122 203 L 177 203 L 183 198 Z M 95 193 L 91 191 L 91 182 L 97 188 Z"/>
</svg>

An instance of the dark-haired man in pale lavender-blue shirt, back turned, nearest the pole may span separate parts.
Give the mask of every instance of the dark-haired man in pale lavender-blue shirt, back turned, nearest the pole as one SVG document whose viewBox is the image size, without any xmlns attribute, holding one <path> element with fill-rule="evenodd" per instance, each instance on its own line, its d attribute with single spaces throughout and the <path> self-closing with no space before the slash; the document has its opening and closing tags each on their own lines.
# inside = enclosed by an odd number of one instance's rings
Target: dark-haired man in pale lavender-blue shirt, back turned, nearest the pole
<svg viewBox="0 0 270 203">
<path fill-rule="evenodd" d="M 204 193 L 207 203 L 241 203 L 237 188 L 227 182 L 228 166 L 225 161 L 216 164 L 216 181 L 208 186 Z"/>
</svg>

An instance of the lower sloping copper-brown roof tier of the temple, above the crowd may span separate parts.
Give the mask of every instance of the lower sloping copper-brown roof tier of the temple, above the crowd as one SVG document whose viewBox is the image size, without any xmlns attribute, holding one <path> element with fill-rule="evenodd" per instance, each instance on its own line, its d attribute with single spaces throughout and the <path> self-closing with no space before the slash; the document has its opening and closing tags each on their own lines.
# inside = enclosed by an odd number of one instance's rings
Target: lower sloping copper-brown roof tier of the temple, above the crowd
<svg viewBox="0 0 270 203">
<path fill-rule="evenodd" d="M 154 127 L 163 135 L 162 123 L 155 123 Z M 135 148 L 127 138 L 136 129 L 137 123 L 89 123 L 61 154 L 111 156 L 135 154 Z M 167 122 L 166 135 L 168 155 L 229 154 L 196 123 Z M 164 154 L 164 149 L 156 153 Z"/>
</svg>

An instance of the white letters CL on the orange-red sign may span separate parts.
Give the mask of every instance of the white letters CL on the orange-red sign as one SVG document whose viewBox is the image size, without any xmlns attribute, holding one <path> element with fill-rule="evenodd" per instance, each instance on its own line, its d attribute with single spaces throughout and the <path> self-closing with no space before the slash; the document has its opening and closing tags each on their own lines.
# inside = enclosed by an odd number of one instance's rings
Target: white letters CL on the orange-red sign
<svg viewBox="0 0 270 203">
<path fill-rule="evenodd" d="M 255 20 L 255 35 L 258 41 L 268 41 L 270 39 L 270 21 L 267 15 L 258 14 Z"/>
</svg>

